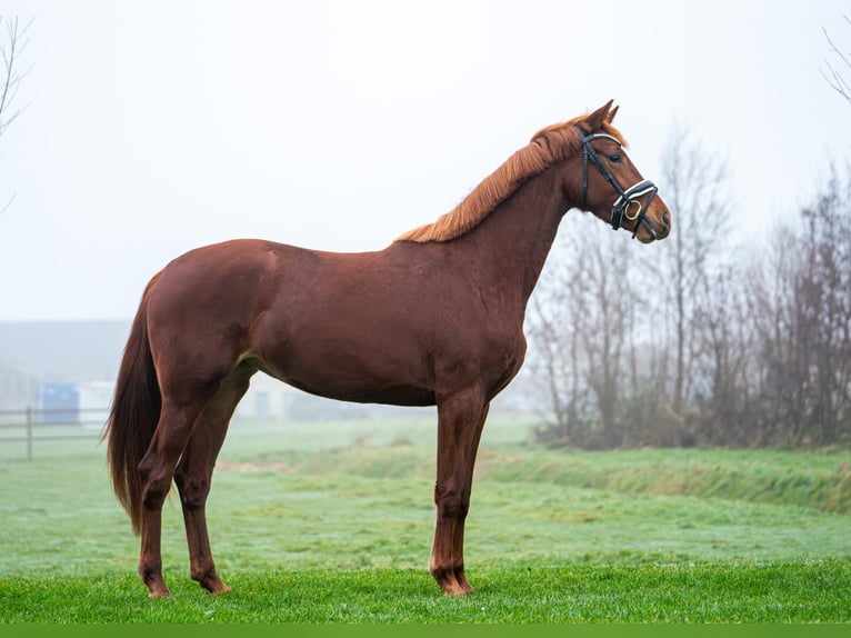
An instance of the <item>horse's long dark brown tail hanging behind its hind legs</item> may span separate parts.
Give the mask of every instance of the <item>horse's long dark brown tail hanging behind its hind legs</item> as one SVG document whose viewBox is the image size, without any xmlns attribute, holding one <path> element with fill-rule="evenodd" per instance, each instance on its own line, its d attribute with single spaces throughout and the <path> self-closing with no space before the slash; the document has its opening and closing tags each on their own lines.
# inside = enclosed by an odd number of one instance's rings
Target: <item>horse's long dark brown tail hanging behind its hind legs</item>
<svg viewBox="0 0 851 638">
<path fill-rule="evenodd" d="M 112 489 L 130 515 L 133 532 L 142 529 L 142 482 L 139 462 L 148 451 L 160 418 L 162 397 L 148 341 L 148 298 L 156 276 L 148 283 L 124 347 L 102 439 L 107 439 Z"/>
</svg>

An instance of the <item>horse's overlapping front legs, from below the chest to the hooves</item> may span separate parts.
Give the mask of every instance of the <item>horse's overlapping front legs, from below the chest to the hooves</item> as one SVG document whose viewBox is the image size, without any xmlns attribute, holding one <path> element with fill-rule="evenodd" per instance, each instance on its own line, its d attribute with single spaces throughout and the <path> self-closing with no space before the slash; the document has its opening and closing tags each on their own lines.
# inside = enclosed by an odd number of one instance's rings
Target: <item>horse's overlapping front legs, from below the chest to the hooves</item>
<svg viewBox="0 0 851 638">
<path fill-rule="evenodd" d="M 464 521 L 488 402 L 477 388 L 438 401 L 437 524 L 429 571 L 448 596 L 473 590 L 464 576 Z"/>
</svg>

